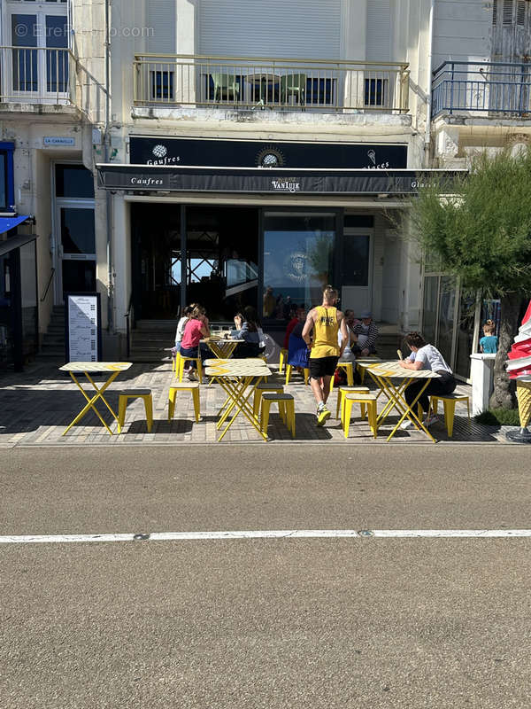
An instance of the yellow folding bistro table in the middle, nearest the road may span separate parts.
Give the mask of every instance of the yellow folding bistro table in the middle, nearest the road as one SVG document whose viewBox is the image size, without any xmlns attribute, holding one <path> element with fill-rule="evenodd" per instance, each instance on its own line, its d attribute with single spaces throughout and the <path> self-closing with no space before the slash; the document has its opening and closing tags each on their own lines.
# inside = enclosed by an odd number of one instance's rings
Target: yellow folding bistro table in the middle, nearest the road
<svg viewBox="0 0 531 709">
<path fill-rule="evenodd" d="M 251 357 L 242 360 L 206 360 L 204 363 L 207 377 L 216 378 L 223 391 L 227 393 L 227 399 L 218 412 L 217 428 L 220 429 L 227 418 L 230 418 L 218 441 L 223 440 L 240 413 L 257 429 L 262 438 L 267 440 L 266 434 L 260 428 L 259 419 L 254 416 L 250 405 L 250 397 L 254 394 L 258 384 L 271 375 L 271 370 L 267 367 L 266 362 Z M 247 389 L 250 391 L 247 392 Z"/>
</svg>

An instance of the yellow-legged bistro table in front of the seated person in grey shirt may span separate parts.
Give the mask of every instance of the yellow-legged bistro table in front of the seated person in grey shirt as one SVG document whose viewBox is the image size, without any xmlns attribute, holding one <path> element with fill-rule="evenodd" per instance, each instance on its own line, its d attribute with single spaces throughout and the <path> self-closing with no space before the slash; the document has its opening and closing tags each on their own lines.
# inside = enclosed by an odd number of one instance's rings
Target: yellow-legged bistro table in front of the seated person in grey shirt
<svg viewBox="0 0 531 709">
<path fill-rule="evenodd" d="M 419 418 L 415 412 L 417 401 L 419 401 L 419 398 L 422 396 L 422 393 L 424 393 L 431 379 L 439 378 L 439 375 L 435 371 L 406 370 L 404 367 L 401 367 L 400 362 L 397 361 L 374 363 L 359 362 L 359 366 L 369 372 L 374 382 L 377 386 L 379 386 L 381 392 L 384 393 L 388 399 L 386 405 L 377 418 L 378 428 L 383 425 L 385 419 L 389 416 L 389 413 L 393 409 L 396 409 L 396 411 L 400 414 L 398 423 L 389 433 L 388 441 L 393 438 L 404 419 L 407 418 L 412 421 L 415 428 L 425 432 L 427 437 L 433 440 L 434 443 L 437 442 L 432 434 L 427 430 L 427 427 L 422 423 L 421 417 Z M 424 386 L 422 386 L 410 406 L 407 401 L 405 401 L 404 392 L 408 386 L 415 381 L 419 381 L 419 379 L 424 382 Z"/>
</svg>

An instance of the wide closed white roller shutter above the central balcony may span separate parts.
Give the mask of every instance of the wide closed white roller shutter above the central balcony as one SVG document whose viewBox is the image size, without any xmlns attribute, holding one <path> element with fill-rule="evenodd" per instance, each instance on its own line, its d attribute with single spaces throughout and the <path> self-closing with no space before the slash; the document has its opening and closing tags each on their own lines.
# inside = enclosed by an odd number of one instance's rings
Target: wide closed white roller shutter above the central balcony
<svg viewBox="0 0 531 709">
<path fill-rule="evenodd" d="M 222 57 L 339 58 L 341 4 L 342 0 L 199 0 L 199 52 Z"/>
</svg>

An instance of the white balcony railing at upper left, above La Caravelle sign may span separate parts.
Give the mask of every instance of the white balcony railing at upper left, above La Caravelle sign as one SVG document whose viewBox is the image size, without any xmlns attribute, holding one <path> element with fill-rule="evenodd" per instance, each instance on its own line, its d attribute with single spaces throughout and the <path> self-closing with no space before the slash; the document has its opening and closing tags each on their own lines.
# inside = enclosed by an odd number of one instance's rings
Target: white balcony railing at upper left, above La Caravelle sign
<svg viewBox="0 0 531 709">
<path fill-rule="evenodd" d="M 74 105 L 104 120 L 105 90 L 69 49 L 0 46 L 0 103 Z"/>
</svg>

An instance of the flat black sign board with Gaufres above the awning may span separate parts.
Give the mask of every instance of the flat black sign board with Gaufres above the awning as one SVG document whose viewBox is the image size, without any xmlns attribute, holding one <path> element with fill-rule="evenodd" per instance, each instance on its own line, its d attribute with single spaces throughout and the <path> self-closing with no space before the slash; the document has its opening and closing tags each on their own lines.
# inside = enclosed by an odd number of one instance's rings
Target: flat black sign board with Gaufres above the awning
<svg viewBox="0 0 531 709">
<path fill-rule="evenodd" d="M 131 165 L 226 168 L 407 168 L 407 145 L 131 136 Z"/>
</svg>

